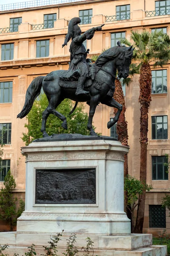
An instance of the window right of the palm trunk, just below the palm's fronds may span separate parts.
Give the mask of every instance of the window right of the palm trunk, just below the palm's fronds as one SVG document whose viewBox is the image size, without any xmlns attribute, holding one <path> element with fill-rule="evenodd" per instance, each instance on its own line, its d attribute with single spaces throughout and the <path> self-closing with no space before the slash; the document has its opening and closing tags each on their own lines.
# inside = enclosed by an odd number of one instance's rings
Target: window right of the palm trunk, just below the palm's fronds
<svg viewBox="0 0 170 256">
<path fill-rule="evenodd" d="M 167 93 L 167 70 L 152 70 L 152 93 Z"/>
</svg>

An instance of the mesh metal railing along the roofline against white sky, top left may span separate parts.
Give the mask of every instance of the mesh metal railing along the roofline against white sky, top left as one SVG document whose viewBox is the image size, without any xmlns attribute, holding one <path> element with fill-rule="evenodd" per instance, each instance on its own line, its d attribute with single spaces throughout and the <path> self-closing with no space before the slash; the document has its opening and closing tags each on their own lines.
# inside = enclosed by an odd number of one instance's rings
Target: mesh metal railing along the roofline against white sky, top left
<svg viewBox="0 0 170 256">
<path fill-rule="evenodd" d="M 56 5 L 60 3 L 74 3 L 74 2 L 80 2 L 80 1 L 82 2 L 82 1 L 90 1 L 90 0 L 34 0 L 34 1 L 21 2 L 21 3 L 9 3 L 9 4 L 1 4 L 0 11 L 26 9 L 31 7 Z"/>
</svg>

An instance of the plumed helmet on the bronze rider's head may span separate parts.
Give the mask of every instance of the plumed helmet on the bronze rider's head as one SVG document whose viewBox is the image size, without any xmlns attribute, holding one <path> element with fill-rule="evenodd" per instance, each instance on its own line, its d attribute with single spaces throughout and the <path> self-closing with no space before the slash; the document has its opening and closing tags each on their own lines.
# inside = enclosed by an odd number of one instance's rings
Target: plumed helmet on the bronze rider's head
<svg viewBox="0 0 170 256">
<path fill-rule="evenodd" d="M 72 18 L 68 24 L 68 33 L 65 36 L 65 41 L 64 44 L 62 44 L 62 47 L 67 45 L 68 41 L 70 41 L 70 39 L 75 38 L 77 35 L 81 35 L 81 29 L 80 27 L 77 25 L 81 22 L 79 17 L 75 17 Z"/>
</svg>

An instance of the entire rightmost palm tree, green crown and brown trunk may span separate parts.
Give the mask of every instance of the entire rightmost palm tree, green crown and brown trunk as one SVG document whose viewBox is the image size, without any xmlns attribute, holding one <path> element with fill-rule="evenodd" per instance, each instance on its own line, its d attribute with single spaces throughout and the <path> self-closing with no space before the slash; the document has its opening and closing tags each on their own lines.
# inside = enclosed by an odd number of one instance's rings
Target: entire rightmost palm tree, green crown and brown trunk
<svg viewBox="0 0 170 256">
<path fill-rule="evenodd" d="M 153 67 L 163 67 L 170 60 L 170 38 L 163 31 L 154 31 L 149 33 L 143 31 L 132 31 L 130 39 L 135 47 L 134 59 L 139 63 L 140 68 L 140 180 L 146 184 L 147 172 L 147 131 L 148 131 L 148 110 L 151 101 L 151 84 Z M 127 39 L 122 39 L 123 44 L 132 45 Z M 135 233 L 142 233 L 144 222 L 144 205 L 145 205 L 146 190 L 139 197 L 139 206 L 136 216 Z"/>
</svg>

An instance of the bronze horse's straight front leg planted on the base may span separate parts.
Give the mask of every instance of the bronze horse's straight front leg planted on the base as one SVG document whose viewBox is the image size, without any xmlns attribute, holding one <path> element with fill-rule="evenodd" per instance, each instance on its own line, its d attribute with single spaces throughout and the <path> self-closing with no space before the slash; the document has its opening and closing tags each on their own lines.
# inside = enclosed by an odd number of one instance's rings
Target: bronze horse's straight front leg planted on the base
<svg viewBox="0 0 170 256">
<path fill-rule="evenodd" d="M 88 130 L 90 131 L 90 135 L 97 135 L 92 128 L 92 121 L 93 121 L 94 113 L 96 110 L 96 106 L 98 105 L 98 102 L 99 102 L 98 95 L 91 97 L 90 111 L 89 111 L 89 116 L 88 116 Z"/>
</svg>

